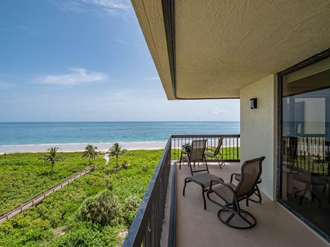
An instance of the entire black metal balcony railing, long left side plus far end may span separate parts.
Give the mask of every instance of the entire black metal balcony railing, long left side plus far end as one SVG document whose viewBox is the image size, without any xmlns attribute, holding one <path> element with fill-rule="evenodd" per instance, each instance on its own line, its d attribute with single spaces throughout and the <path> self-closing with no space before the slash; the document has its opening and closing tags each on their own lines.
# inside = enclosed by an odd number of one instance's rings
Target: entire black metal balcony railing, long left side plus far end
<svg viewBox="0 0 330 247">
<path fill-rule="evenodd" d="M 180 158 L 181 148 L 185 143 L 207 139 L 208 149 L 214 149 L 217 148 L 221 137 L 223 137 L 223 146 L 220 152 L 223 159 L 239 161 L 241 156 L 239 134 L 175 134 L 168 139 L 153 178 L 146 189 L 140 209 L 129 228 L 124 247 L 161 245 L 171 162 Z M 175 232 L 173 232 L 175 231 L 175 170 L 173 170 L 172 179 L 171 205 L 168 205 L 171 207 L 168 246 L 175 246 Z"/>
</svg>

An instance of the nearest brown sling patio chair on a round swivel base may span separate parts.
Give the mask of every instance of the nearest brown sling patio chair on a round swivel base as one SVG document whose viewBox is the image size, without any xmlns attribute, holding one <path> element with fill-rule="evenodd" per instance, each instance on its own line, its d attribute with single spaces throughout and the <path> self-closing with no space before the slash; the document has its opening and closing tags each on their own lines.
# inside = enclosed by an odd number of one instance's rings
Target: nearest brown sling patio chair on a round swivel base
<svg viewBox="0 0 330 247">
<path fill-rule="evenodd" d="M 256 218 L 248 211 L 241 209 L 239 202 L 253 195 L 256 183 L 261 176 L 264 159 L 265 157 L 260 157 L 245 161 L 241 166 L 241 178 L 237 186 L 232 184 L 232 180 L 237 174 L 232 174 L 230 183 L 223 183 L 219 180 L 211 181 L 207 196 L 211 202 L 221 207 L 218 217 L 226 226 L 247 229 L 256 225 Z M 210 198 L 211 193 L 219 196 L 225 204 Z"/>
</svg>

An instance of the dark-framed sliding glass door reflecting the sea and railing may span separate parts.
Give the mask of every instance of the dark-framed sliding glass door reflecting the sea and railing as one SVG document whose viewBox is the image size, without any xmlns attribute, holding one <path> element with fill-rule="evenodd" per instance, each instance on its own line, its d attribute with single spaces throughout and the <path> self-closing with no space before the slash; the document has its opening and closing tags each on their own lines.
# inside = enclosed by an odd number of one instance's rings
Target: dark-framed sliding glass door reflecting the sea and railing
<svg viewBox="0 0 330 247">
<path fill-rule="evenodd" d="M 279 199 L 329 240 L 330 58 L 281 78 Z"/>
</svg>

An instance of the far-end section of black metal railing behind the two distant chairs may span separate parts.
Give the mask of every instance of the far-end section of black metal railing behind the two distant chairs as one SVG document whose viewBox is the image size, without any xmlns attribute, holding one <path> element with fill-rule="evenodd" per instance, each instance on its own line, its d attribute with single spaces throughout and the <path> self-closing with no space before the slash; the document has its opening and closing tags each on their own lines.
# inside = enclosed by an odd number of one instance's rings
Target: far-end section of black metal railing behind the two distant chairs
<svg viewBox="0 0 330 247">
<path fill-rule="evenodd" d="M 221 137 L 223 137 L 223 144 L 220 152 L 223 160 L 239 161 L 241 158 L 241 137 L 239 134 L 173 134 L 172 158 L 178 160 L 181 155 L 182 145 L 191 143 L 194 140 L 208 140 L 207 150 L 215 150 Z M 212 160 L 212 158 L 210 158 L 210 160 Z"/>
</svg>

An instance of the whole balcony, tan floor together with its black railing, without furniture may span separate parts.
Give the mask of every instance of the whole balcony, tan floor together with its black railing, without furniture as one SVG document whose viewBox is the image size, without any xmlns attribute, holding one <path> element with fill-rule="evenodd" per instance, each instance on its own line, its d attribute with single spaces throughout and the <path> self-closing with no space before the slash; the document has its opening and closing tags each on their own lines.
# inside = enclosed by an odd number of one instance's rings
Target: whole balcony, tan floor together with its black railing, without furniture
<svg viewBox="0 0 330 247">
<path fill-rule="evenodd" d="M 186 164 L 179 169 L 181 145 L 192 139 L 208 139 L 208 145 L 214 147 L 219 137 L 224 137 L 221 152 L 225 166 L 219 169 L 217 163 L 208 161 L 210 174 L 228 181 L 230 174 L 239 172 L 239 135 L 173 135 L 168 139 L 123 246 L 329 246 L 263 193 L 262 204 L 250 202 L 247 207 L 241 202 L 241 207 L 257 220 L 256 226 L 249 230 L 222 224 L 217 217 L 219 207 L 208 200 L 204 210 L 201 187 L 195 183 L 189 183 L 186 196 L 182 196 L 184 178 L 190 176 L 190 169 Z"/>
</svg>

